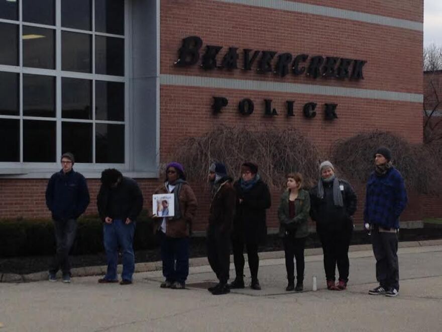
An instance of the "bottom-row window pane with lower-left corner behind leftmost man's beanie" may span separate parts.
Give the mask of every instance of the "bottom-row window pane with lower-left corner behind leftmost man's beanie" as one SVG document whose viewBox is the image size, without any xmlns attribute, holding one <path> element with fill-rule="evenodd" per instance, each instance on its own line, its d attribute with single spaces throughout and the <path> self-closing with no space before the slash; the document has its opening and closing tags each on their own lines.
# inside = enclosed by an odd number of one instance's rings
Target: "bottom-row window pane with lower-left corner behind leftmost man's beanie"
<svg viewBox="0 0 442 332">
<path fill-rule="evenodd" d="M 92 124 L 62 122 L 61 150 L 72 152 L 75 162 L 92 162 Z"/>
</svg>

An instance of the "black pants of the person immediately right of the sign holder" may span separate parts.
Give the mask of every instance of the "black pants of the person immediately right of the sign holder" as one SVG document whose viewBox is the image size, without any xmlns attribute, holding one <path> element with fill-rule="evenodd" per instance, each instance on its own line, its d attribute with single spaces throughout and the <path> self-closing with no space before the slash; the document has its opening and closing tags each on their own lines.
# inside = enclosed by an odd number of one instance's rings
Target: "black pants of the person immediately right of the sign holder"
<svg viewBox="0 0 442 332">
<path fill-rule="evenodd" d="M 230 233 L 220 232 L 219 226 L 207 229 L 207 260 L 221 284 L 227 284 L 230 270 Z"/>
</svg>

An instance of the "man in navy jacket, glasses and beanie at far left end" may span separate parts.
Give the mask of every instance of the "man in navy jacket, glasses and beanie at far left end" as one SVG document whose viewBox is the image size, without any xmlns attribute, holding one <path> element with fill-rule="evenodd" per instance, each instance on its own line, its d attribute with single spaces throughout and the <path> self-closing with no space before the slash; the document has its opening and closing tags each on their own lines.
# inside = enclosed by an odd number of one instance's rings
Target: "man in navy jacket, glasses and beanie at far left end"
<svg viewBox="0 0 442 332">
<path fill-rule="evenodd" d="M 89 205 L 86 180 L 72 169 L 74 162 L 72 153 L 64 153 L 61 171 L 52 175 L 46 188 L 46 205 L 52 213 L 57 241 L 57 252 L 49 267 L 49 281 L 57 281 L 56 274 L 61 269 L 63 282 L 71 282 L 69 251 L 75 239 L 77 218 Z"/>
</svg>

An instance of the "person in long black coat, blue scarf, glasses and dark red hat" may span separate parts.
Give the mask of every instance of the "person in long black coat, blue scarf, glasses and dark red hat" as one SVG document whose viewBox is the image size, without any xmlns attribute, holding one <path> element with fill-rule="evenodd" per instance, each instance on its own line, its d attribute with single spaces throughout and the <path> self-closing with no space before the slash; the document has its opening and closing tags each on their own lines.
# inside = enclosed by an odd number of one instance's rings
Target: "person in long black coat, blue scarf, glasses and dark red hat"
<svg viewBox="0 0 442 332">
<path fill-rule="evenodd" d="M 230 288 L 244 288 L 244 246 L 247 248 L 252 277 L 251 288 L 260 290 L 258 281 L 258 245 L 267 236 L 266 209 L 271 206 L 268 186 L 260 179 L 258 166 L 245 162 L 241 179 L 234 184 L 237 193 L 236 213 L 232 232 L 232 247 L 236 278 Z"/>
</svg>

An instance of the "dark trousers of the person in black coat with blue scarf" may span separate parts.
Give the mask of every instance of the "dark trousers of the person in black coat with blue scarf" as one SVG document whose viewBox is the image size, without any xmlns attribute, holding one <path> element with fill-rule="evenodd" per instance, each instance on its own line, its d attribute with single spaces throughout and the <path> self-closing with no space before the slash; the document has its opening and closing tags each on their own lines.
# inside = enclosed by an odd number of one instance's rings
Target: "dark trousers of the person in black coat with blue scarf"
<svg viewBox="0 0 442 332">
<path fill-rule="evenodd" d="M 235 272 L 238 279 L 243 279 L 244 276 L 244 246 L 246 246 L 247 256 L 249 258 L 249 268 L 252 281 L 258 280 L 258 242 L 257 241 L 245 241 L 240 236 L 235 236 L 232 239 L 233 257 L 235 263 Z"/>
</svg>

